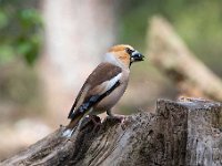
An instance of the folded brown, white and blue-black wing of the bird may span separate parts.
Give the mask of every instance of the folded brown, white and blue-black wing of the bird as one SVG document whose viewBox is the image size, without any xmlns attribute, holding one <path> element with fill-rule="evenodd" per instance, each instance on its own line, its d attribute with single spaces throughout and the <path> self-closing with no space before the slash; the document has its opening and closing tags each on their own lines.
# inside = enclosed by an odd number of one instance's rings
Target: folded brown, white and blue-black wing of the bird
<svg viewBox="0 0 222 166">
<path fill-rule="evenodd" d="M 68 118 L 84 114 L 94 104 L 109 95 L 120 85 L 122 69 L 111 63 L 101 63 L 89 75 L 80 90 Z"/>
</svg>

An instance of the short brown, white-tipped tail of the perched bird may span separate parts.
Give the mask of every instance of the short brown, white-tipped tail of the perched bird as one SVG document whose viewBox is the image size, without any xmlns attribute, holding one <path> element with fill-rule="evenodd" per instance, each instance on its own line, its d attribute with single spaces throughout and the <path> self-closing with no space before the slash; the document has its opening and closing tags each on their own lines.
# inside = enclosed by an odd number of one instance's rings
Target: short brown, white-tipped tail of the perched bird
<svg viewBox="0 0 222 166">
<path fill-rule="evenodd" d="M 84 114 L 83 114 L 84 115 Z M 74 128 L 77 128 L 78 126 L 78 123 L 80 122 L 80 120 L 83 117 L 83 115 L 79 115 L 79 116 L 75 116 L 74 118 L 72 118 L 70 121 L 70 123 L 67 125 L 64 132 L 62 133 L 62 136 L 65 136 L 65 137 L 71 137 Z"/>
</svg>

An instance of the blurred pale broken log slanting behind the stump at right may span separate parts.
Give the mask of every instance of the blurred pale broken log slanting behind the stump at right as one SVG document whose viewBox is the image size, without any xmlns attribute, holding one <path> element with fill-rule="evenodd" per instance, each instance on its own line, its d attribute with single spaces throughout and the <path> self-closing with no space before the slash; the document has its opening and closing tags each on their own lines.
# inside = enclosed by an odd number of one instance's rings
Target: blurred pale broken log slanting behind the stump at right
<svg viewBox="0 0 222 166">
<path fill-rule="evenodd" d="M 183 95 L 222 102 L 222 81 L 194 56 L 170 23 L 154 17 L 148 31 L 151 62 L 174 81 Z"/>
</svg>

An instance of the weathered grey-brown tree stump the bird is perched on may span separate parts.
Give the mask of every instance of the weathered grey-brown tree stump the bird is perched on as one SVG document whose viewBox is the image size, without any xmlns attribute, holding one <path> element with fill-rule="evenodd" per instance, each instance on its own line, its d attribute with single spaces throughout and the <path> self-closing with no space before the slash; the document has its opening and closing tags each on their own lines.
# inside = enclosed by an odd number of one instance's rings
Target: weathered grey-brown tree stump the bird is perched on
<svg viewBox="0 0 222 166">
<path fill-rule="evenodd" d="M 2 165 L 179 166 L 222 165 L 222 103 L 159 100 L 155 114 L 138 113 L 123 124 L 88 122 L 70 139 L 63 127 Z"/>
</svg>

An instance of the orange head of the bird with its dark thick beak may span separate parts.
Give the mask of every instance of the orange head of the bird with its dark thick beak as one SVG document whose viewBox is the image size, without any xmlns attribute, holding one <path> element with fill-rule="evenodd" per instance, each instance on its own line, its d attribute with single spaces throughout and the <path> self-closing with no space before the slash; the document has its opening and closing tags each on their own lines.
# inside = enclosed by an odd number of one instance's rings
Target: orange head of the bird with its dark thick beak
<svg viewBox="0 0 222 166">
<path fill-rule="evenodd" d="M 114 56 L 114 59 L 122 63 L 124 66 L 130 66 L 133 62 L 143 61 L 143 55 L 128 44 L 120 44 L 112 46 L 108 55 Z"/>
</svg>

